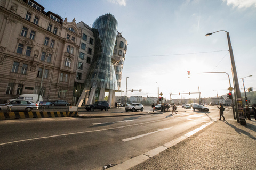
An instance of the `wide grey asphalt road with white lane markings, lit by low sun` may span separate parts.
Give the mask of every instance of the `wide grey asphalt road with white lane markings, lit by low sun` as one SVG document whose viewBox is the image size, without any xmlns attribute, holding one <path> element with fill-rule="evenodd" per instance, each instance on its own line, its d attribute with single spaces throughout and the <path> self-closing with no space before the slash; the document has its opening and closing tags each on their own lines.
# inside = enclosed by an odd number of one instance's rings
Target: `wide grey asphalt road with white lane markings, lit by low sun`
<svg viewBox="0 0 256 170">
<path fill-rule="evenodd" d="M 0 169 L 102 169 L 120 164 L 210 122 L 219 110 L 209 108 L 210 112 L 178 107 L 177 114 L 0 121 Z"/>
</svg>

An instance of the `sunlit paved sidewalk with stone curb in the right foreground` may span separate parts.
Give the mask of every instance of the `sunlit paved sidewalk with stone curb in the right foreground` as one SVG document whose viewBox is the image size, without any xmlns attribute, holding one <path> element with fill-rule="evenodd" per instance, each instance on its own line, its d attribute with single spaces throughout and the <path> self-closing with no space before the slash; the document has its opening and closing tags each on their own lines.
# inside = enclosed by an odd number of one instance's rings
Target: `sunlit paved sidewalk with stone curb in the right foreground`
<svg viewBox="0 0 256 170">
<path fill-rule="evenodd" d="M 150 156 L 147 152 L 109 169 L 256 169 L 255 118 L 246 120 L 246 126 L 237 123 L 231 113 L 225 118 L 219 121 L 217 117 L 159 154 Z"/>
</svg>

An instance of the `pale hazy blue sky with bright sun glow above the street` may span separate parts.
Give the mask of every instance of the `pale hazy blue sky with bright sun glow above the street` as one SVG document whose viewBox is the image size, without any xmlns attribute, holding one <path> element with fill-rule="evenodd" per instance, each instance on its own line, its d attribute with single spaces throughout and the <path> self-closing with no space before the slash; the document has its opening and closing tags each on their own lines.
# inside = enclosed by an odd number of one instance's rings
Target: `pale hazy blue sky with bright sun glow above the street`
<svg viewBox="0 0 256 170">
<path fill-rule="evenodd" d="M 121 89 L 127 96 L 163 97 L 198 92 L 202 97 L 221 96 L 228 92 L 225 73 L 233 86 L 226 32 L 229 32 L 238 78 L 245 89 L 256 84 L 256 0 L 37 0 L 62 18 L 92 27 L 98 16 L 111 13 L 118 21 L 118 31 L 128 41 Z M 188 78 L 187 71 L 191 72 Z M 241 92 L 243 82 L 238 79 Z M 157 84 L 158 83 L 158 84 Z M 256 90 L 256 87 L 254 87 Z M 120 94 L 116 94 L 119 96 Z M 182 98 L 196 98 L 182 95 Z M 172 98 L 181 98 L 172 95 Z"/>
</svg>

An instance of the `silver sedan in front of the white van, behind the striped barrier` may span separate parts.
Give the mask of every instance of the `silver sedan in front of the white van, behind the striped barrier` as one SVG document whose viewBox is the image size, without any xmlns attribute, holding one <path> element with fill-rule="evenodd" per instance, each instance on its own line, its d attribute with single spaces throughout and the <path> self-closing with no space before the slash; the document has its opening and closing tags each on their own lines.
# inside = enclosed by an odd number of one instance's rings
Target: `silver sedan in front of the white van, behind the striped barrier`
<svg viewBox="0 0 256 170">
<path fill-rule="evenodd" d="M 38 104 L 27 100 L 13 100 L 6 104 L 0 105 L 0 111 L 27 111 L 38 110 Z"/>
</svg>

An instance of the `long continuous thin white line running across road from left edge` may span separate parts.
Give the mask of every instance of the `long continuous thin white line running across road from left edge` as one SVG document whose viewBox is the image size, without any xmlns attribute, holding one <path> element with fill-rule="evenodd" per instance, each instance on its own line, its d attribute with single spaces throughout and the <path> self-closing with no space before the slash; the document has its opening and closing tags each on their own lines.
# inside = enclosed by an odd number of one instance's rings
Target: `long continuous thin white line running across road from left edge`
<svg viewBox="0 0 256 170">
<path fill-rule="evenodd" d="M 40 138 L 32 138 L 32 139 L 18 140 L 18 141 L 13 141 L 13 142 L 0 143 L 0 146 L 1 146 L 1 145 L 11 144 L 11 143 L 18 143 L 18 142 L 24 142 L 24 141 L 30 141 L 30 140 L 37 140 L 37 139 L 47 139 L 47 138 L 62 137 L 62 136 L 73 135 L 73 134 L 82 134 L 82 133 L 106 131 L 106 130 L 110 130 L 110 129 L 127 128 L 127 127 L 130 127 L 130 126 L 137 126 L 137 125 L 141 125 L 141 124 L 147 124 L 147 123 L 153 123 L 153 122 L 159 122 L 159 121 L 163 121 L 163 120 L 156 120 L 156 121 L 150 121 L 150 122 L 144 122 L 144 123 L 126 125 L 126 126 L 119 126 L 119 127 L 115 127 L 115 128 L 107 128 L 107 129 L 100 129 L 100 130 L 93 130 L 93 131 L 85 131 L 85 132 L 76 132 L 76 133 L 67 133 L 67 134 L 58 134 L 58 135 L 52 135 L 52 136 L 49 136 L 49 137 L 40 137 Z"/>
</svg>

